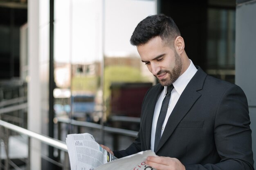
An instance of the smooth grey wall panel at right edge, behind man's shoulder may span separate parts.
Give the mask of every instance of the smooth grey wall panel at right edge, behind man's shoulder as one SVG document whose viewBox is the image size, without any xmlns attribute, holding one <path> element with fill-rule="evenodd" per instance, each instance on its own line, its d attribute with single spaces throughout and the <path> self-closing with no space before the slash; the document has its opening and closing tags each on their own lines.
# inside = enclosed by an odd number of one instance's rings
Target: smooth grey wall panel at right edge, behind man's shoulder
<svg viewBox="0 0 256 170">
<path fill-rule="evenodd" d="M 245 92 L 256 161 L 256 1 L 237 0 L 236 6 L 236 84 Z M 254 163 L 255 167 L 255 163 Z"/>
</svg>

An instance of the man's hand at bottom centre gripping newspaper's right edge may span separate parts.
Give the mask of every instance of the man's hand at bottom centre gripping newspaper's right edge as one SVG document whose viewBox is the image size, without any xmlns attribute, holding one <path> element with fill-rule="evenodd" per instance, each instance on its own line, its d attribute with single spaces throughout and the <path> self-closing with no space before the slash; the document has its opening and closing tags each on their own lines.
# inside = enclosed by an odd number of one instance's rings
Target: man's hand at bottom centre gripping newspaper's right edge
<svg viewBox="0 0 256 170">
<path fill-rule="evenodd" d="M 149 156 L 146 164 L 157 170 L 186 170 L 178 159 L 171 157 Z"/>
</svg>

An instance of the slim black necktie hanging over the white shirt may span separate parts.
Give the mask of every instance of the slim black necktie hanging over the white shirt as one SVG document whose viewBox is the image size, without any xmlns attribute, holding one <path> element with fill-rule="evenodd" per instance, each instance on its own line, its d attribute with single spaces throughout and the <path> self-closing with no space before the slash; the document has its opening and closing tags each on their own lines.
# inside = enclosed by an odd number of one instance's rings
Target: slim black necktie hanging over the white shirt
<svg viewBox="0 0 256 170">
<path fill-rule="evenodd" d="M 164 100 L 162 102 L 162 106 L 160 109 L 160 113 L 159 113 L 159 117 L 157 120 L 157 128 L 155 130 L 155 147 L 154 147 L 154 151 L 157 150 L 157 146 L 159 144 L 160 138 L 161 138 L 161 131 L 162 131 L 162 126 L 164 123 L 164 119 L 167 113 L 167 109 L 168 109 L 168 104 L 171 98 L 171 91 L 173 90 L 173 85 L 170 85 L 167 87 L 167 92 L 166 95 L 164 97 Z"/>
</svg>

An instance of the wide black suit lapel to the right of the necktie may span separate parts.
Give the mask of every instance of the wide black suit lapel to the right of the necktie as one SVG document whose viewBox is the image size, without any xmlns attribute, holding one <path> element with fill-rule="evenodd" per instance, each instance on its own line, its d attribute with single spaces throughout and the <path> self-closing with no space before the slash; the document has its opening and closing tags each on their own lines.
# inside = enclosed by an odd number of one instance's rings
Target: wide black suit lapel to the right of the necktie
<svg viewBox="0 0 256 170">
<path fill-rule="evenodd" d="M 197 73 L 195 74 L 195 76 L 193 76 L 189 84 L 182 92 L 182 95 L 180 96 L 170 117 L 168 118 L 168 122 L 164 129 L 164 133 L 160 139 L 156 152 L 164 145 L 164 143 L 168 140 L 173 131 L 176 129 L 177 125 L 184 118 L 186 113 L 188 113 L 196 100 L 198 100 L 198 98 L 201 96 L 201 94 L 197 91 L 202 89 L 206 76 L 207 74 L 204 73 L 201 68 L 198 68 Z"/>
</svg>

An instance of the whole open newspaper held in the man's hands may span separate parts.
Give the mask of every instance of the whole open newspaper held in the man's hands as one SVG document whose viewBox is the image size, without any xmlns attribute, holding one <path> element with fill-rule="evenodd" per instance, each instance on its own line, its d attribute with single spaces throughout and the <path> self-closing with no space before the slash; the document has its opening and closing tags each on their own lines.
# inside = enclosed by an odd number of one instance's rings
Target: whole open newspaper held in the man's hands
<svg viewBox="0 0 256 170">
<path fill-rule="evenodd" d="M 70 134 L 66 138 L 71 170 L 153 170 L 146 165 L 151 150 L 117 159 L 103 149 L 89 133 Z"/>
</svg>

